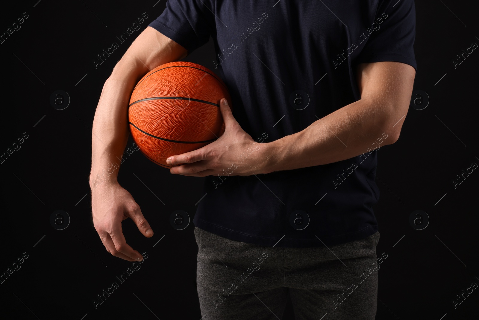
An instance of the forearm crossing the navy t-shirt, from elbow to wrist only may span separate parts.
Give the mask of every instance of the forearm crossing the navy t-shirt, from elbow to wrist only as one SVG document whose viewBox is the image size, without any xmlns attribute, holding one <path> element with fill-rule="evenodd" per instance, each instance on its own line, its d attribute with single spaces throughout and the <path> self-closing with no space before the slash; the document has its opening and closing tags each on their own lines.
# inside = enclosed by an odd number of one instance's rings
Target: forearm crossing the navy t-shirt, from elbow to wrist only
<svg viewBox="0 0 479 320">
<path fill-rule="evenodd" d="M 361 99 L 318 119 L 302 131 L 268 142 L 264 171 L 325 165 L 394 143 L 404 118 L 393 126 L 401 116 L 392 110 L 387 102 Z"/>
</svg>

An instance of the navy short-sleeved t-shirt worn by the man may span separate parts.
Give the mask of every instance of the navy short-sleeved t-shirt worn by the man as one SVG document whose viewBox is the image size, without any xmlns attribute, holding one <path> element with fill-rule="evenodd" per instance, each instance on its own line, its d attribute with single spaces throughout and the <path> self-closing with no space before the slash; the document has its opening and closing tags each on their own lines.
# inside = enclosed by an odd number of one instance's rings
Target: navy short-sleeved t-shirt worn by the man
<svg viewBox="0 0 479 320">
<path fill-rule="evenodd" d="M 358 63 L 399 61 L 416 69 L 413 0 L 168 0 L 149 26 L 189 53 L 213 38 L 217 56 L 205 67 L 226 83 L 233 116 L 258 143 L 359 100 Z M 388 139 L 385 133 L 364 154 L 327 165 L 208 176 L 194 225 L 276 247 L 370 236 L 378 230 L 379 198 L 371 150 Z"/>
</svg>

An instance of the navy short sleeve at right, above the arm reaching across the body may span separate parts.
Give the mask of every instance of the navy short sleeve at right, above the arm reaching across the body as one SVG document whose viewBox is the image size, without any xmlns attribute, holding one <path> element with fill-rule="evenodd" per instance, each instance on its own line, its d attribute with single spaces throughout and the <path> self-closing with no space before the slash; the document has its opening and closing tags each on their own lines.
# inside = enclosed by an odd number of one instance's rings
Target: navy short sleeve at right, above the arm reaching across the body
<svg viewBox="0 0 479 320">
<path fill-rule="evenodd" d="M 372 30 L 372 34 L 354 64 L 397 61 L 417 71 L 413 48 L 416 37 L 414 0 L 380 1 L 374 24 L 368 30 Z"/>
</svg>

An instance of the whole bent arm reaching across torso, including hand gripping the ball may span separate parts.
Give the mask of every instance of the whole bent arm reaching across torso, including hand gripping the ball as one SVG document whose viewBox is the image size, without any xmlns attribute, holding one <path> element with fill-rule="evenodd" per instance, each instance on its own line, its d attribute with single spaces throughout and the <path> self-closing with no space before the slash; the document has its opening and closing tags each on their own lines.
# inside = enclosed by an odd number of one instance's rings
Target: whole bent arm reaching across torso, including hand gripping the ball
<svg viewBox="0 0 479 320">
<path fill-rule="evenodd" d="M 413 67 L 401 62 L 362 63 L 357 69 L 360 100 L 267 143 L 255 142 L 242 130 L 223 104 L 226 99 L 221 99 L 223 135 L 203 148 L 171 156 L 167 163 L 183 165 L 170 172 L 192 177 L 250 176 L 325 165 L 392 144 L 408 112 L 415 75 Z M 242 155 L 248 158 L 239 162 Z"/>
</svg>

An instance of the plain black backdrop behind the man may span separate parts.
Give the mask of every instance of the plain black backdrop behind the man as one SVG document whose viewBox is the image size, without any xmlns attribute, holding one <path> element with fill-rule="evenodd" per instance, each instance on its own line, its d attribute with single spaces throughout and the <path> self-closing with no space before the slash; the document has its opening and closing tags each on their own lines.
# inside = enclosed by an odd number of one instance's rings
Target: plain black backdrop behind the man
<svg viewBox="0 0 479 320">
<path fill-rule="evenodd" d="M 179 231 L 169 222 L 174 210 L 184 210 L 193 219 L 195 203 L 203 196 L 203 178 L 173 176 L 139 152 L 125 160 L 118 178 L 155 232 L 146 238 L 130 219 L 123 222 L 128 244 L 148 258 L 103 304 L 95 308 L 92 302 L 132 264 L 110 255 L 92 225 L 92 120 L 115 63 L 164 10 L 165 0 L 155 3 L 33 0 L 16 1 L 0 11 L 1 33 L 23 12 L 28 14 L 21 29 L 0 44 L 0 153 L 28 134 L 21 149 L 0 164 L 0 273 L 28 254 L 21 269 L 0 284 L 2 319 L 203 316 L 196 292 L 194 225 Z M 141 29 L 95 69 L 97 54 L 143 12 L 148 18 Z M 456 69 L 452 62 L 462 49 L 479 43 L 477 12 L 472 1 L 416 1 L 414 90 L 426 92 L 430 101 L 417 110 L 427 100 L 418 96 L 399 141 L 378 151 L 377 252 L 386 252 L 388 259 L 378 272 L 376 319 L 477 319 L 478 290 L 456 309 L 452 303 L 461 290 L 479 284 L 479 172 L 474 170 L 456 189 L 452 182 L 473 162 L 479 164 L 479 50 Z M 214 70 L 215 56 L 210 39 L 184 60 Z M 66 91 L 71 99 L 64 110 L 49 102 L 56 90 Z M 128 146 L 132 142 L 130 138 Z M 50 224 L 56 210 L 66 211 L 71 219 L 64 230 Z M 430 218 L 423 230 L 409 223 L 415 210 Z M 294 319 L 291 304 L 283 319 Z"/>
</svg>

